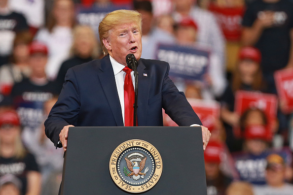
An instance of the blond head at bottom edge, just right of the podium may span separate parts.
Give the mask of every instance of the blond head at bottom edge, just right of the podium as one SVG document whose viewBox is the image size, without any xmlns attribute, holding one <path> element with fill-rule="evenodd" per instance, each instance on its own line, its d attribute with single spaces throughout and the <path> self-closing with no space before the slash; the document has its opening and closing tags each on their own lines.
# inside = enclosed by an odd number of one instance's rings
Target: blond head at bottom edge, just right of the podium
<svg viewBox="0 0 293 195">
<path fill-rule="evenodd" d="M 250 183 L 235 181 L 227 188 L 226 195 L 255 195 Z M 256 194 L 258 195 L 258 194 Z"/>
</svg>

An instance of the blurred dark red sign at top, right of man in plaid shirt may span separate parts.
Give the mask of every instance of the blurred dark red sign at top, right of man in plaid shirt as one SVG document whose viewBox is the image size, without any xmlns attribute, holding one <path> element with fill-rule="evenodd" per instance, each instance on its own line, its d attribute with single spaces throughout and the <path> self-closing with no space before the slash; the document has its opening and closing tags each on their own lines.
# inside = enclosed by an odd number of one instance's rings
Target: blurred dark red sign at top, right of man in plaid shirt
<svg viewBox="0 0 293 195">
<path fill-rule="evenodd" d="M 218 23 L 229 41 L 238 41 L 241 37 L 241 22 L 245 7 L 220 7 L 211 3 L 210 10 L 214 12 Z"/>
</svg>

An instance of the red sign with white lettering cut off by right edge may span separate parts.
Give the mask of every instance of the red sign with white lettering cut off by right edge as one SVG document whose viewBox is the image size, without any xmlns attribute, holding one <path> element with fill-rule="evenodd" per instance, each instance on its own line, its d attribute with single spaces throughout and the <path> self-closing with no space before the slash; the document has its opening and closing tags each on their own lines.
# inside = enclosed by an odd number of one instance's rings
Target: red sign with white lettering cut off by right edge
<svg viewBox="0 0 293 195">
<path fill-rule="evenodd" d="M 290 114 L 293 111 L 293 68 L 278 70 L 274 74 L 278 95 L 285 102 L 283 111 Z"/>
</svg>

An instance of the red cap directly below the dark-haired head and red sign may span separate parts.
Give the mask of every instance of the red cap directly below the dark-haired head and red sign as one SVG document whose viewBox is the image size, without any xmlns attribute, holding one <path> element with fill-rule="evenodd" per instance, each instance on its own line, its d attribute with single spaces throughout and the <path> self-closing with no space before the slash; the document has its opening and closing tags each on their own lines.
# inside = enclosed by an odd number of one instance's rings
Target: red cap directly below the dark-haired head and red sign
<svg viewBox="0 0 293 195">
<path fill-rule="evenodd" d="M 251 125 L 244 130 L 245 139 L 262 139 L 269 141 L 269 130 L 264 125 Z"/>
</svg>

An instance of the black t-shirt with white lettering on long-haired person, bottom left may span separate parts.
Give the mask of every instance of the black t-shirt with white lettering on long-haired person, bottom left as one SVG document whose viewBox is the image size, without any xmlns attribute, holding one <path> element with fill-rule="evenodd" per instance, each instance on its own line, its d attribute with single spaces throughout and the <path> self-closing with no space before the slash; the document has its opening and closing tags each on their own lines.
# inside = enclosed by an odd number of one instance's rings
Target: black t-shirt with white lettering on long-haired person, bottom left
<svg viewBox="0 0 293 195">
<path fill-rule="evenodd" d="M 0 157 L 0 176 L 13 174 L 22 183 L 22 194 L 27 190 L 27 174 L 29 171 L 39 171 L 35 157 L 27 153 L 23 159 Z"/>
</svg>

